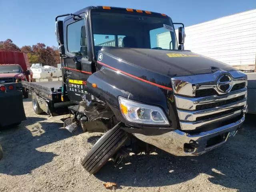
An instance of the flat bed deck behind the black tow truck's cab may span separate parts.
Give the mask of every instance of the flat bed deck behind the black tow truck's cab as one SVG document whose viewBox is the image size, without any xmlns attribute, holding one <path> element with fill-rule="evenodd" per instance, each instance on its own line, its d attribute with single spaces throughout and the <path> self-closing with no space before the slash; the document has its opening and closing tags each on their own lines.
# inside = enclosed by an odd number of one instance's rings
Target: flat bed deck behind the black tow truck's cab
<svg viewBox="0 0 256 192">
<path fill-rule="evenodd" d="M 62 81 L 27 82 L 22 81 L 22 86 L 32 90 L 40 96 L 52 100 L 52 95 L 61 94 Z"/>
</svg>

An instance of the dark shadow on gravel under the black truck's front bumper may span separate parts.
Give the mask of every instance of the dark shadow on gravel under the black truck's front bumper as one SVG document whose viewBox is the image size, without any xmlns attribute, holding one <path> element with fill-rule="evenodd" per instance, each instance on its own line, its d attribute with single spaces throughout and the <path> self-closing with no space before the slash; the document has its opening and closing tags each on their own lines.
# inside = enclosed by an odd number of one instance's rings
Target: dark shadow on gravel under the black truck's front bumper
<svg viewBox="0 0 256 192">
<path fill-rule="evenodd" d="M 256 116 L 247 115 L 244 129 L 220 148 L 197 157 L 158 154 L 133 155 L 118 168 L 109 161 L 95 175 L 121 186 L 169 186 L 206 174 L 204 182 L 244 191 L 256 191 Z"/>
</svg>

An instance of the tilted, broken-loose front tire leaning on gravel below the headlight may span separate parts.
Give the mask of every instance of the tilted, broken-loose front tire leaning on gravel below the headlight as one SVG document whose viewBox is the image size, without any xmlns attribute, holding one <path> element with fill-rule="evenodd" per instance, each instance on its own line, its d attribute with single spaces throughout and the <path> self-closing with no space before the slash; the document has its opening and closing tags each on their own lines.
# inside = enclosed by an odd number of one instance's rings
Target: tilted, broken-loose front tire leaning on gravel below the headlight
<svg viewBox="0 0 256 192">
<path fill-rule="evenodd" d="M 121 126 L 122 124 L 118 123 L 108 130 L 86 154 L 82 161 L 82 166 L 90 174 L 98 172 L 126 142 L 128 135 L 124 130 L 120 129 Z"/>
</svg>

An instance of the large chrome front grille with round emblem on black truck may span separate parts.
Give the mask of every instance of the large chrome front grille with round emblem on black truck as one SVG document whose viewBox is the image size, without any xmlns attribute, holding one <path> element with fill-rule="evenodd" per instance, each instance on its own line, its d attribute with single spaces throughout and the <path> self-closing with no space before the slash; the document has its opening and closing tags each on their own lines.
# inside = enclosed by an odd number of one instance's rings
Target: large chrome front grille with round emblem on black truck
<svg viewBox="0 0 256 192">
<path fill-rule="evenodd" d="M 175 77 L 172 85 L 182 130 L 210 126 L 246 111 L 247 76 L 240 71 Z"/>
</svg>

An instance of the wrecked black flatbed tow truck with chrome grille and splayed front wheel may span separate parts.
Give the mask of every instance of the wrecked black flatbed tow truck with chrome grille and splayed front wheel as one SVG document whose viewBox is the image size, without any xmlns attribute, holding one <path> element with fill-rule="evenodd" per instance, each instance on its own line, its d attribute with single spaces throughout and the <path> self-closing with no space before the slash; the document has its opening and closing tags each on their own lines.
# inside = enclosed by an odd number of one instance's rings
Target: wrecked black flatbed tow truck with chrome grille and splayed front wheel
<svg viewBox="0 0 256 192">
<path fill-rule="evenodd" d="M 198 156 L 242 126 L 246 74 L 184 50 L 184 24 L 166 14 L 109 6 L 55 20 L 62 82 L 22 84 L 32 92 L 36 114 L 55 115 L 68 106 L 73 116 L 64 128 L 106 132 L 82 161 L 90 174 L 110 158 L 119 164 L 133 140 L 146 143 L 147 152 L 155 146 Z M 174 24 L 182 25 L 178 42 Z"/>
</svg>

